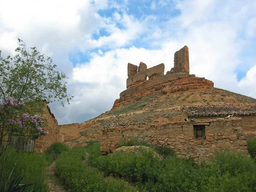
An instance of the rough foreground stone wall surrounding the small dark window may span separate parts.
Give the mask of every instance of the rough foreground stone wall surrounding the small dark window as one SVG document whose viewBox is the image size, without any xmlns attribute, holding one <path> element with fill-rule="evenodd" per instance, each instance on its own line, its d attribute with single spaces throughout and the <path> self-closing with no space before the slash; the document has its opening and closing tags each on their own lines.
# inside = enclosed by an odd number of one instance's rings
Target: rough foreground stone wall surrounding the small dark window
<svg viewBox="0 0 256 192">
<path fill-rule="evenodd" d="M 194 138 L 193 125 L 205 125 L 206 139 Z M 134 135 L 139 135 L 149 144 L 172 148 L 178 155 L 192 157 L 195 161 L 212 158 L 215 151 L 223 148 L 248 155 L 247 140 L 239 118 L 156 125 L 112 124 L 102 130 L 101 152 L 113 152 L 121 140 L 127 141 Z"/>
</svg>

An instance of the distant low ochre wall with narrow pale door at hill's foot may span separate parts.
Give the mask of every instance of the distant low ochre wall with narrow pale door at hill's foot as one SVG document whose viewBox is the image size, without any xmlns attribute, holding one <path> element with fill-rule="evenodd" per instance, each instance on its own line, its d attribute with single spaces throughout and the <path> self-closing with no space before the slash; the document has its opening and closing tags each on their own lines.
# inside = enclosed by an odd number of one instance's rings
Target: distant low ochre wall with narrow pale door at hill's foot
<svg viewBox="0 0 256 192">
<path fill-rule="evenodd" d="M 60 125 L 59 140 L 61 142 L 64 142 L 66 140 L 72 140 L 72 139 L 77 139 L 81 137 L 81 134 L 78 129 L 79 125 L 80 125 L 79 123 Z"/>
</svg>

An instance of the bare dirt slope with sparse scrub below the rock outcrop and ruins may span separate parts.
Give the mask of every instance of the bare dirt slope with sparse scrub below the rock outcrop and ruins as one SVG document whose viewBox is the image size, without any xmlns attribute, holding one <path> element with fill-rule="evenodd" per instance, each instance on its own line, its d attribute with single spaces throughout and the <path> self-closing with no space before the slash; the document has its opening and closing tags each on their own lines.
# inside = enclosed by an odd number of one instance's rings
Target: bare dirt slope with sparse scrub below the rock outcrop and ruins
<svg viewBox="0 0 256 192">
<path fill-rule="evenodd" d="M 79 139 L 70 146 L 100 140 L 101 130 L 111 123 L 163 123 L 180 120 L 180 106 L 224 103 L 256 103 L 256 99 L 218 88 L 203 88 L 175 93 L 154 94 L 130 99 L 122 107 L 107 111 L 79 125 Z"/>
</svg>

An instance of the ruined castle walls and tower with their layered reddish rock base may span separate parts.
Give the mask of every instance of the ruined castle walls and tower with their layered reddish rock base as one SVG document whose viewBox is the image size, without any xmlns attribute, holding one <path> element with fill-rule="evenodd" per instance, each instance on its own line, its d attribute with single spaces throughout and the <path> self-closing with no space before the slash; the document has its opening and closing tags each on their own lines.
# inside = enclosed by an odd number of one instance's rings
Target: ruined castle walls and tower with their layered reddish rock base
<svg viewBox="0 0 256 192">
<path fill-rule="evenodd" d="M 142 62 L 139 67 L 128 63 L 127 89 L 120 93 L 120 98 L 116 99 L 113 108 L 138 96 L 213 87 L 212 81 L 189 74 L 189 49 L 187 46 L 175 52 L 174 67 L 166 75 L 164 75 L 164 68 L 164 64 L 148 69 L 147 65 Z"/>
</svg>

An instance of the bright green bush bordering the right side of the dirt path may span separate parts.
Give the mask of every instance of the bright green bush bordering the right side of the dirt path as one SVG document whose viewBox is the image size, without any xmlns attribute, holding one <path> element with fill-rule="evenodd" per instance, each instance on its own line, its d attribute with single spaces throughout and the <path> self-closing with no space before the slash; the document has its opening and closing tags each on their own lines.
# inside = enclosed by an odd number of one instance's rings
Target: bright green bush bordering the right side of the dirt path
<svg viewBox="0 0 256 192">
<path fill-rule="evenodd" d="M 84 147 L 74 147 L 67 153 L 62 153 L 56 160 L 56 174 L 73 192 L 137 191 L 123 180 L 116 180 L 113 177 L 105 179 L 102 172 L 82 161 L 86 159 L 85 154 Z"/>
</svg>

